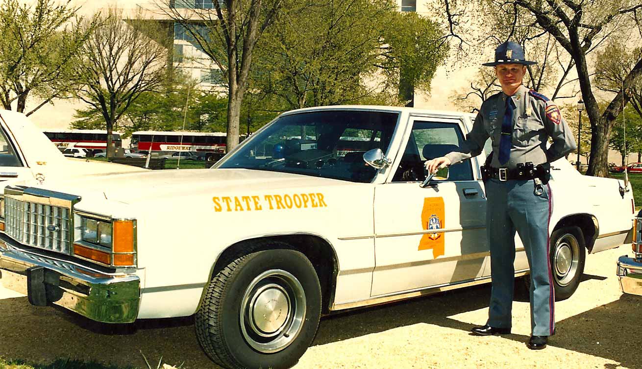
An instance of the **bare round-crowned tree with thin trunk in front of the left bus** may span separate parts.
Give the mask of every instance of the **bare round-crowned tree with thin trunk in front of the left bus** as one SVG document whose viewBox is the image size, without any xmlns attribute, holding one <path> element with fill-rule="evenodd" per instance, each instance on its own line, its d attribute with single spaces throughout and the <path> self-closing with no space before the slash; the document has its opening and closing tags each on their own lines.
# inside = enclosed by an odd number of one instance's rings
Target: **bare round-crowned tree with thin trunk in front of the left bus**
<svg viewBox="0 0 642 369">
<path fill-rule="evenodd" d="M 97 17 L 101 26 L 94 28 L 83 45 L 76 78 L 81 83 L 76 96 L 100 111 L 107 128 L 107 155 L 113 155 L 112 132 L 132 103 L 145 92 L 159 90 L 166 77 L 167 47 L 161 32 L 141 15 L 123 21 L 114 8 Z M 84 29 L 91 24 L 85 22 Z"/>
</svg>

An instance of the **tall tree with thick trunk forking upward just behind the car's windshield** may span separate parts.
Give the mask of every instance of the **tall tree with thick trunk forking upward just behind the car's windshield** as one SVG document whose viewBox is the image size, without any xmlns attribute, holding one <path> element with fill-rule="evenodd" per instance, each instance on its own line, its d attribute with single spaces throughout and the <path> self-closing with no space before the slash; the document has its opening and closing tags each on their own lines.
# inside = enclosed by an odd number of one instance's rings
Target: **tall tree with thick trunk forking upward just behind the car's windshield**
<svg viewBox="0 0 642 369">
<path fill-rule="evenodd" d="M 199 49 L 227 76 L 227 150 L 239 142 L 239 119 L 254 47 L 275 19 L 282 0 L 213 0 L 214 9 L 159 0 L 160 10 L 180 24 Z"/>
</svg>

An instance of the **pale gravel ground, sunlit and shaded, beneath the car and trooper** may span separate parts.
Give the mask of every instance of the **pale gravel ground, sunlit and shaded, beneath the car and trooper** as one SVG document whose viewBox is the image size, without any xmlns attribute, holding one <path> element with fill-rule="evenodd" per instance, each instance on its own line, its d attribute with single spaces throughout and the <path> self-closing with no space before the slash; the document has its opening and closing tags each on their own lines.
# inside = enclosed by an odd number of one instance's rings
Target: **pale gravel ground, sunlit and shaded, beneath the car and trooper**
<svg viewBox="0 0 642 369">
<path fill-rule="evenodd" d="M 615 276 L 617 257 L 627 252 L 625 245 L 587 256 L 578 291 L 556 305 L 557 334 L 545 350 L 526 348 L 530 314 L 524 300 L 514 303 L 513 334 L 469 334 L 487 317 L 490 288 L 484 285 L 324 318 L 295 368 L 642 369 L 642 297 L 622 295 Z M 217 368 L 198 346 L 191 318 L 114 328 L 5 294 L 0 289 L 3 359 L 43 366 L 69 357 L 146 368 L 142 352 L 154 366 L 162 356 L 182 368 Z"/>
</svg>

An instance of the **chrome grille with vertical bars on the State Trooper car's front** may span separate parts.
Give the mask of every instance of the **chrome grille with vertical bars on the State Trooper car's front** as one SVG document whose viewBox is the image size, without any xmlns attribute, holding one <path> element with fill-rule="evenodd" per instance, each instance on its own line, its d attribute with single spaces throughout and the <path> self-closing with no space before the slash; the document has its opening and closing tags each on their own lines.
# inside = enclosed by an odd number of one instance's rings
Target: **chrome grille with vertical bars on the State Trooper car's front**
<svg viewBox="0 0 642 369">
<path fill-rule="evenodd" d="M 6 196 L 4 202 L 7 236 L 24 245 L 69 253 L 70 209 L 11 196 Z"/>
</svg>

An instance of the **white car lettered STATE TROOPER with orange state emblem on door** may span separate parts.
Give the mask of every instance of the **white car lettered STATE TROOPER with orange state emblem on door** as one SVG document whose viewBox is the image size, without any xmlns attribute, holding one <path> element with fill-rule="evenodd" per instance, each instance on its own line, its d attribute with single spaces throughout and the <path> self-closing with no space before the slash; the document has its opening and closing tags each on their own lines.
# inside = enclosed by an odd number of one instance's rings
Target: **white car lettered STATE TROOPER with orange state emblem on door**
<svg viewBox="0 0 642 369">
<path fill-rule="evenodd" d="M 98 322 L 195 314 L 218 365 L 289 368 L 322 314 L 490 282 L 480 171 L 490 144 L 439 177 L 424 173 L 472 124 L 417 108 L 306 108 L 213 169 L 8 187 L 0 282 Z M 551 177 L 551 283 L 562 300 L 587 254 L 625 243 L 634 200 L 623 181 L 581 175 L 563 158 Z M 521 277 L 528 258 L 515 246 Z"/>
</svg>

